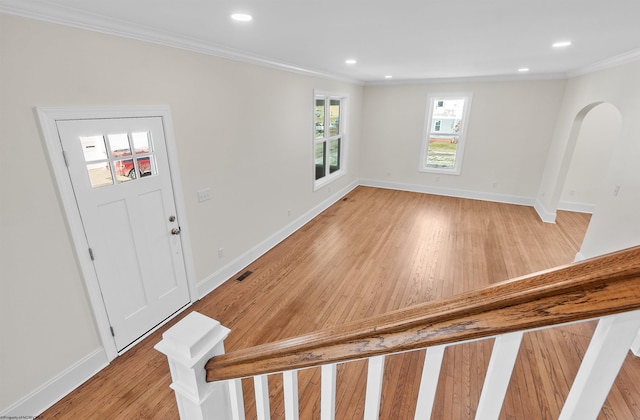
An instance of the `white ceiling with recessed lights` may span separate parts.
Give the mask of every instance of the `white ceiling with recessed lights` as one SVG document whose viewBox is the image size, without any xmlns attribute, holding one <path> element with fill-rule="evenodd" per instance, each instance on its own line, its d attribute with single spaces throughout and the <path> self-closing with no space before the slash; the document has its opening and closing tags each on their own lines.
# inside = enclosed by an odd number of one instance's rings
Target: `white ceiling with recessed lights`
<svg viewBox="0 0 640 420">
<path fill-rule="evenodd" d="M 640 0 L 0 0 L 0 11 L 365 83 L 566 76 L 640 57 Z M 573 45 L 551 47 L 562 40 Z"/>
</svg>

